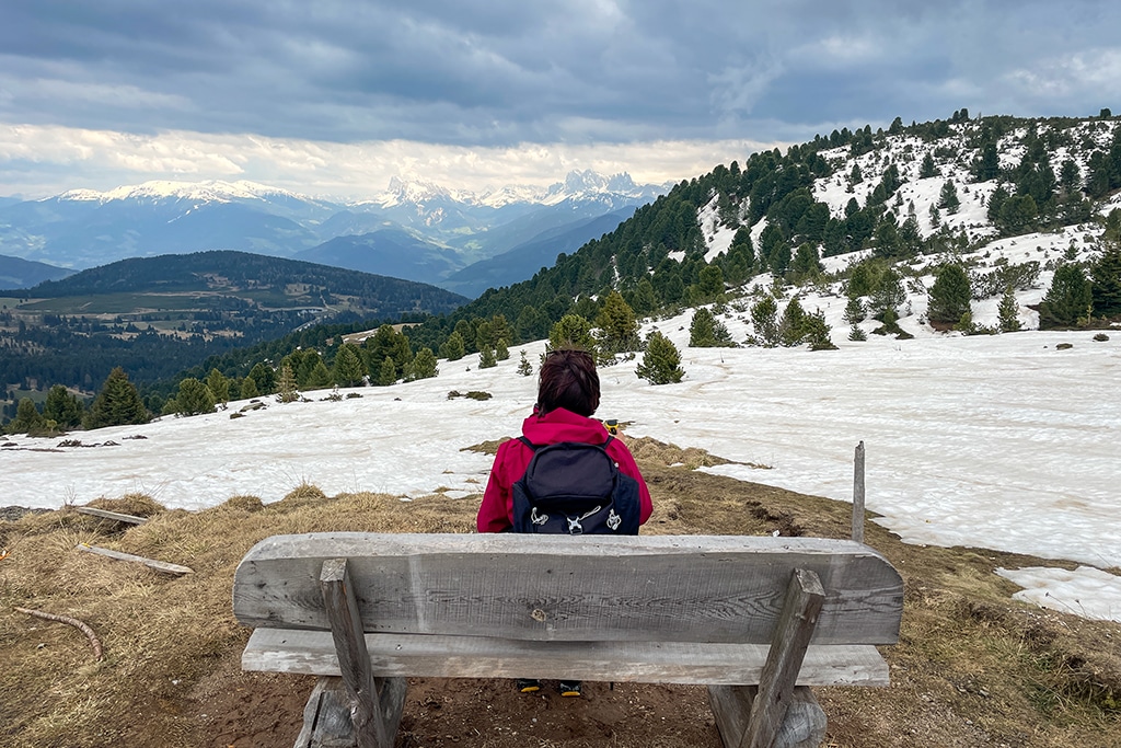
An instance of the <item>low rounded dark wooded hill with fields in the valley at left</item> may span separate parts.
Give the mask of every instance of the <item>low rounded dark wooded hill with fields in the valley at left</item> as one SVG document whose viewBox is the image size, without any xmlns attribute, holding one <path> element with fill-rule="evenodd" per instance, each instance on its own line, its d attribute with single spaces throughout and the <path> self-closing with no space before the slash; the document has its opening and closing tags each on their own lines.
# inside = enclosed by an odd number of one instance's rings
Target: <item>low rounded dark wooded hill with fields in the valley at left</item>
<svg viewBox="0 0 1121 748">
<path fill-rule="evenodd" d="M 0 382 L 95 391 L 114 367 L 138 384 L 316 323 L 363 329 L 446 313 L 466 299 L 435 286 L 233 251 L 120 260 L 10 292 L 0 310 Z"/>
</svg>

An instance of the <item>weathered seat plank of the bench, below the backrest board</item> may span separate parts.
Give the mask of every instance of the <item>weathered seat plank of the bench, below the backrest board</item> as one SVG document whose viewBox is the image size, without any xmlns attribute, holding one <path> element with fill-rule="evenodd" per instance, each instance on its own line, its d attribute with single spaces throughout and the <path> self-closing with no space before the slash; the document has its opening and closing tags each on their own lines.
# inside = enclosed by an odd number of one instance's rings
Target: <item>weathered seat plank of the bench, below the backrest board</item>
<svg viewBox="0 0 1121 748">
<path fill-rule="evenodd" d="M 758 683 L 767 645 L 549 641 L 489 637 L 367 634 L 379 677 L 541 677 L 639 683 Z M 242 669 L 339 675 L 330 631 L 256 629 Z M 876 647 L 817 646 L 806 652 L 798 685 L 889 684 L 888 664 Z"/>
</svg>

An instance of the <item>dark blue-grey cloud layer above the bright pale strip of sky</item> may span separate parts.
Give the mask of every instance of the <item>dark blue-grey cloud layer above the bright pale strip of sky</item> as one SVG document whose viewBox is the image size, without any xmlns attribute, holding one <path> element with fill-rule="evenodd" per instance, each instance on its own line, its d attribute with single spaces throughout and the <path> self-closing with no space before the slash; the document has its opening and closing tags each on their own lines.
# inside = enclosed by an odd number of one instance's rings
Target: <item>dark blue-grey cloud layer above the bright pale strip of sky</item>
<svg viewBox="0 0 1121 748">
<path fill-rule="evenodd" d="M 1119 26 L 1110 0 L 8 2 L 0 121 L 495 146 L 1092 113 Z"/>
</svg>

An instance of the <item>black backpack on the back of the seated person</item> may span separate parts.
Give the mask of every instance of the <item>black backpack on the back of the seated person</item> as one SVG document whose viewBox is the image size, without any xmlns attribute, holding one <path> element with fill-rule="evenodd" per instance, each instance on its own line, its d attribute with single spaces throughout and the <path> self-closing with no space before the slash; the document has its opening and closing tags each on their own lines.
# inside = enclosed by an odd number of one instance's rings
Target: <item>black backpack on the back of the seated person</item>
<svg viewBox="0 0 1121 748">
<path fill-rule="evenodd" d="M 534 451 L 513 484 L 513 532 L 560 535 L 638 535 L 638 481 L 619 470 L 603 444 L 559 442 Z"/>
</svg>

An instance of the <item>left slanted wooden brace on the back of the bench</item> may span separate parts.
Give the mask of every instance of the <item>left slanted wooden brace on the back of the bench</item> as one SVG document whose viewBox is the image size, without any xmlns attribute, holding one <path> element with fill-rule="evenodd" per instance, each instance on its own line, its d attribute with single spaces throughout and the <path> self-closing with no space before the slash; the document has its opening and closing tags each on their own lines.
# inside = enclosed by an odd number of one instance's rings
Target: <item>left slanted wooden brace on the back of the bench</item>
<svg viewBox="0 0 1121 748">
<path fill-rule="evenodd" d="M 323 604 L 331 621 L 331 636 L 339 655 L 339 669 L 353 700 L 351 717 L 358 748 L 392 748 L 392 738 L 379 709 L 378 687 L 370 669 L 370 655 L 362 631 L 362 616 L 351 584 L 345 558 L 328 558 L 319 573 Z M 396 730 L 395 730 L 396 732 Z"/>
</svg>

